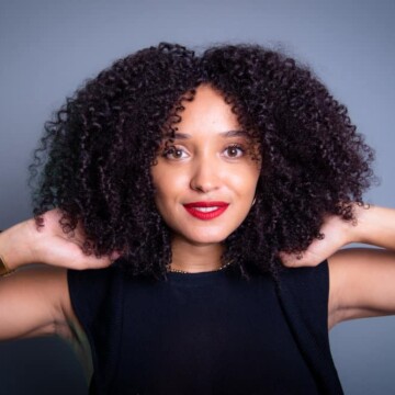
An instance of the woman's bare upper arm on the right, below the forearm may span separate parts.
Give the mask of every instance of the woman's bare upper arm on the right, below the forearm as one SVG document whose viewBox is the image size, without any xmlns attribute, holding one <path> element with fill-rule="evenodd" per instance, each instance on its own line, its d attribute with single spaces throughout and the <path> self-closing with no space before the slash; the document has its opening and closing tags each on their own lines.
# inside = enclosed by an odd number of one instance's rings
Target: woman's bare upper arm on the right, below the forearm
<svg viewBox="0 0 395 395">
<path fill-rule="evenodd" d="M 395 252 L 350 248 L 329 262 L 329 327 L 352 318 L 395 314 Z"/>
</svg>

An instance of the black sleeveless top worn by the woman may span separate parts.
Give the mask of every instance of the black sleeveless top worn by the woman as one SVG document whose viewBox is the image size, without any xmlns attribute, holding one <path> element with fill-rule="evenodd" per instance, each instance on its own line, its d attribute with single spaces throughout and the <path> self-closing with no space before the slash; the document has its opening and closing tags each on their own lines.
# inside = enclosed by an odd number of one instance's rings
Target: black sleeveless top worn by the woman
<svg viewBox="0 0 395 395">
<path fill-rule="evenodd" d="M 158 281 L 109 268 L 68 281 L 92 351 L 90 394 L 341 394 L 326 263 L 285 270 L 279 284 L 232 269 Z"/>
</svg>

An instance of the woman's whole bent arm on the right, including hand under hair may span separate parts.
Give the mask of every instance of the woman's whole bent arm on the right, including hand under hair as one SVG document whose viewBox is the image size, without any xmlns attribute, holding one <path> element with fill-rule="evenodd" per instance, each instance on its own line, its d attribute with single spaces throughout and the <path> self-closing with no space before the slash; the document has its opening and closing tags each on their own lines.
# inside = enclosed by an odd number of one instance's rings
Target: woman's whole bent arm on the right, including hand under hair
<svg viewBox="0 0 395 395">
<path fill-rule="evenodd" d="M 395 314 L 395 210 L 356 205 L 356 223 L 328 217 L 323 240 L 301 257 L 282 255 L 289 267 L 315 266 L 328 258 L 329 327 L 352 318 Z M 380 248 L 348 248 L 362 242 Z"/>
</svg>

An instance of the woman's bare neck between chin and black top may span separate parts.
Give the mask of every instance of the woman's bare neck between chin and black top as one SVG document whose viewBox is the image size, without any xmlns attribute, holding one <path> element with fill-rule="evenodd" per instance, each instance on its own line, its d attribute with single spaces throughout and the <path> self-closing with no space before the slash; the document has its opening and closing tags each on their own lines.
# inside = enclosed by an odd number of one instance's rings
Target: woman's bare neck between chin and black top
<svg viewBox="0 0 395 395">
<path fill-rule="evenodd" d="M 224 246 L 218 242 L 194 245 L 174 237 L 171 242 L 171 269 L 189 273 L 218 270 L 223 251 Z"/>
</svg>

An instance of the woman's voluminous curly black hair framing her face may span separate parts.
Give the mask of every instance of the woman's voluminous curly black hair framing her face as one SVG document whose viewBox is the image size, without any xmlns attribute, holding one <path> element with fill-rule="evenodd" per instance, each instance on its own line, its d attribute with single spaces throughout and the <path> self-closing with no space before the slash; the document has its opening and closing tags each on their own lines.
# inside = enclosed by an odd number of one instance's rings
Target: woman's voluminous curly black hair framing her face
<svg viewBox="0 0 395 395">
<path fill-rule="evenodd" d="M 258 45 L 196 55 L 168 43 L 115 61 L 45 124 L 31 166 L 40 176 L 36 218 L 58 207 L 65 232 L 82 224 L 87 253 L 121 250 L 128 272 L 165 275 L 170 230 L 155 206 L 150 168 L 163 129 L 176 128 L 201 83 L 232 105 L 262 163 L 256 204 L 224 241 L 224 261 L 274 273 L 279 251 L 301 252 L 323 237 L 326 214 L 354 219 L 352 202 L 373 180 L 373 151 L 308 68 Z"/>
</svg>

